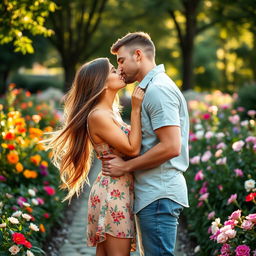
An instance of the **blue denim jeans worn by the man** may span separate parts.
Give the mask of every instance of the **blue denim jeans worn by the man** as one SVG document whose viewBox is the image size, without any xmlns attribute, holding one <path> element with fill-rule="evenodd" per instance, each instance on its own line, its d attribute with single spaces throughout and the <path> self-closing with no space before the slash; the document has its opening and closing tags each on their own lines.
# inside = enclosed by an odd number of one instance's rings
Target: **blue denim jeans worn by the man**
<svg viewBox="0 0 256 256">
<path fill-rule="evenodd" d="M 183 206 L 162 198 L 138 212 L 145 256 L 174 256 L 178 218 Z"/>
</svg>

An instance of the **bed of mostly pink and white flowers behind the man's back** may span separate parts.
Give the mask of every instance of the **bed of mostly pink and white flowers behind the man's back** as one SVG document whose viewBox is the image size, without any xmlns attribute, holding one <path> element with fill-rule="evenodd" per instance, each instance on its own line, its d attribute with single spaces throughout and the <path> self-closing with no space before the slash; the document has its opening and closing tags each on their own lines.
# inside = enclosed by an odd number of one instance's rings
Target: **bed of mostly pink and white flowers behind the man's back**
<svg viewBox="0 0 256 256">
<path fill-rule="evenodd" d="M 190 208 L 184 213 L 199 244 L 195 253 L 255 256 L 256 111 L 244 115 L 220 92 L 206 97 L 189 103 Z"/>
</svg>

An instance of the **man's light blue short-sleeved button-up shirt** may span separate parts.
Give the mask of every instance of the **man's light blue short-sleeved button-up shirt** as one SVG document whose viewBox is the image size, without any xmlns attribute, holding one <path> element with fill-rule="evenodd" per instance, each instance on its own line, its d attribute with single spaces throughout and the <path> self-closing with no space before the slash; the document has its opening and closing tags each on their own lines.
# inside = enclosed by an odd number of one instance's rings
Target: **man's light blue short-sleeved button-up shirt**
<svg viewBox="0 0 256 256">
<path fill-rule="evenodd" d="M 165 73 L 164 65 L 152 69 L 139 86 L 145 90 L 142 103 L 142 147 L 144 154 L 159 140 L 154 130 L 164 126 L 181 129 L 181 154 L 158 167 L 138 170 L 135 176 L 135 213 L 160 198 L 169 198 L 188 207 L 187 185 L 183 172 L 189 165 L 189 116 L 185 98 Z"/>
</svg>

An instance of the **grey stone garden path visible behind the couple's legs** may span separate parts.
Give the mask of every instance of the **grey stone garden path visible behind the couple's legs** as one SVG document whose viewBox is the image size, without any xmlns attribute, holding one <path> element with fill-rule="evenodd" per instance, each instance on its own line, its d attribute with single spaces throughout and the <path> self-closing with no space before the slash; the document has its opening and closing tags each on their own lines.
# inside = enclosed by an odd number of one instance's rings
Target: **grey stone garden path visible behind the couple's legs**
<svg viewBox="0 0 256 256">
<path fill-rule="evenodd" d="M 101 168 L 101 162 L 95 159 L 92 170 L 90 171 L 91 184 L 96 179 Z M 89 188 L 85 188 L 85 193 L 81 195 L 80 208 L 74 213 L 73 223 L 70 226 L 68 237 L 63 242 L 59 256 L 95 256 L 95 248 L 86 246 L 86 225 L 87 225 L 87 200 L 89 197 Z M 179 249 L 179 244 L 176 246 Z M 176 250 L 176 256 L 185 256 L 184 253 Z M 131 253 L 131 256 L 139 256 L 138 252 Z"/>
</svg>

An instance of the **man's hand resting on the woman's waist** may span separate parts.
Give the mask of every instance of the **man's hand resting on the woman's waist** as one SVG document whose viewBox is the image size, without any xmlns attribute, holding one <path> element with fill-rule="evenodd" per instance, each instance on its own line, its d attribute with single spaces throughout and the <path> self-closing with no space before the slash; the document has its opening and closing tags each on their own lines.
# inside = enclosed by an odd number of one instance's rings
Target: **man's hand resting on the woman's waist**
<svg viewBox="0 0 256 256">
<path fill-rule="evenodd" d="M 126 173 L 125 161 L 116 155 L 106 155 L 102 160 L 102 174 L 112 177 L 120 177 Z"/>
</svg>

